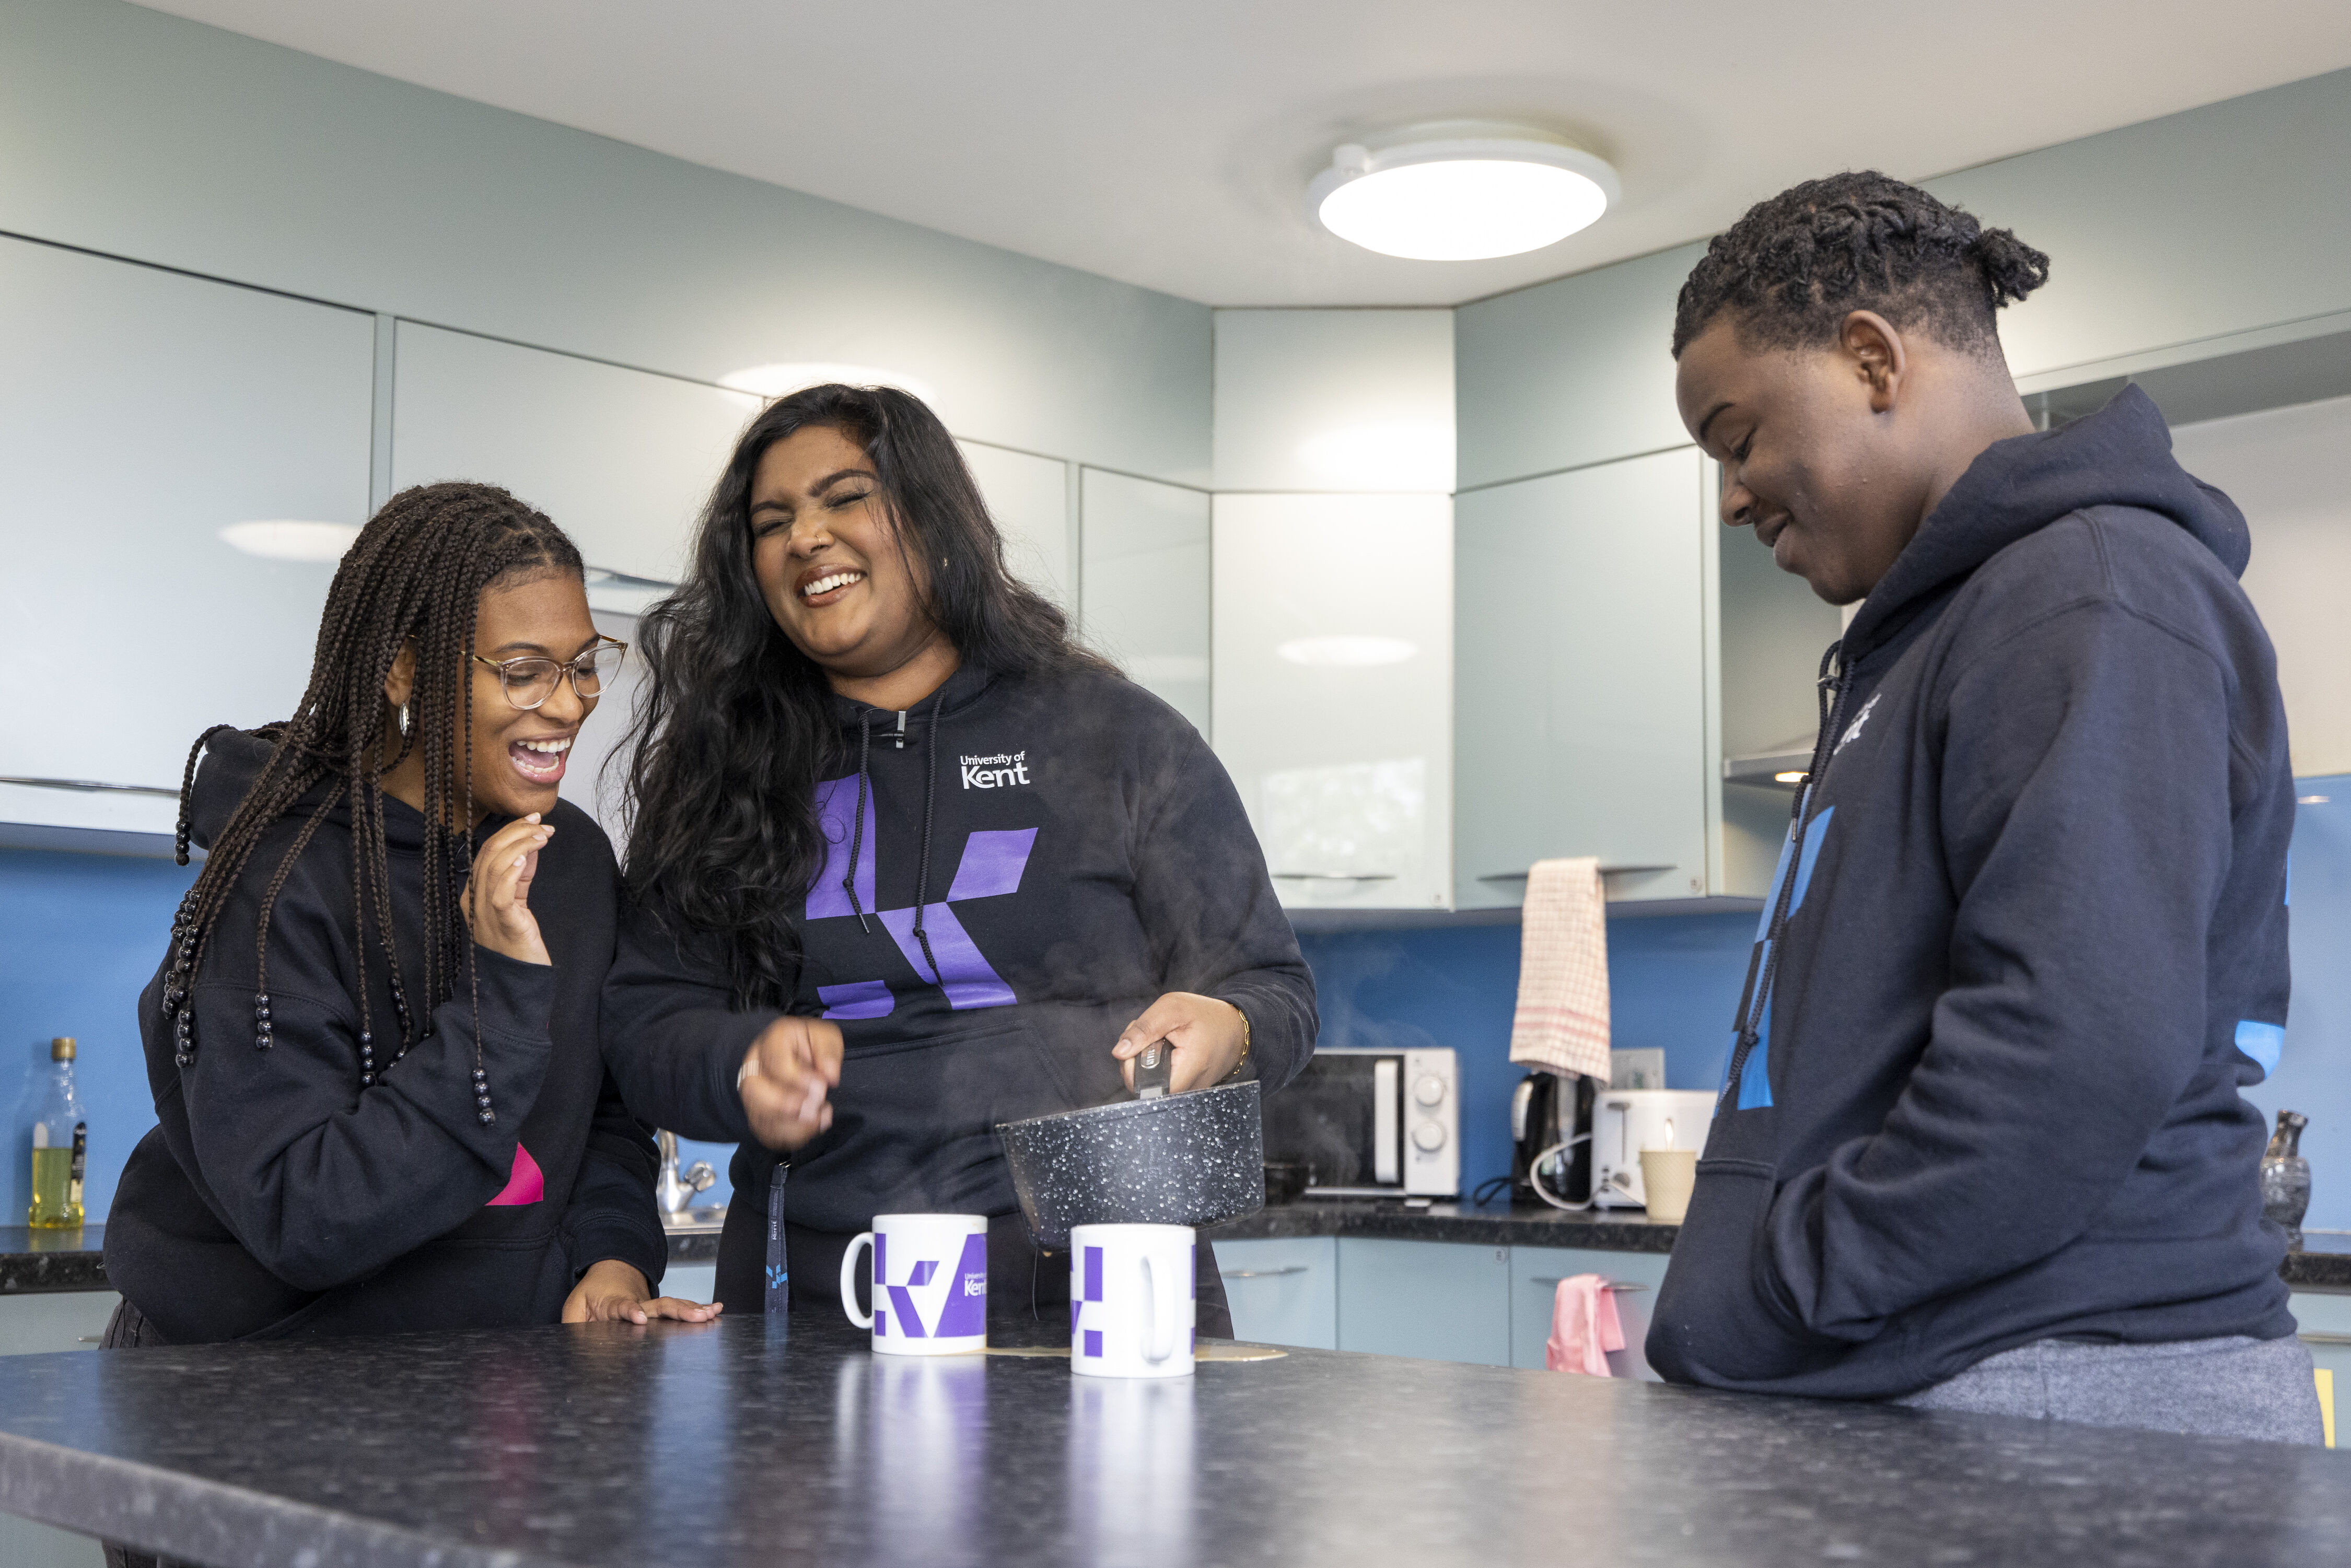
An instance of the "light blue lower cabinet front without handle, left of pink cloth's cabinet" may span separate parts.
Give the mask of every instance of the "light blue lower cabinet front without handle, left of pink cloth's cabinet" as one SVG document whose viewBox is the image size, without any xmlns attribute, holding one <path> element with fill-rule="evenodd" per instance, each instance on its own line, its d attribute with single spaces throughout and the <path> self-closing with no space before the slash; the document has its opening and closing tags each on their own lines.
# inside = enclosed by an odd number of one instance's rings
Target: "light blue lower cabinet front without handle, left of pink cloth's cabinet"
<svg viewBox="0 0 2351 1568">
<path fill-rule="evenodd" d="M 1338 1347 L 1509 1366 L 1509 1248 L 1340 1239 Z"/>
</svg>

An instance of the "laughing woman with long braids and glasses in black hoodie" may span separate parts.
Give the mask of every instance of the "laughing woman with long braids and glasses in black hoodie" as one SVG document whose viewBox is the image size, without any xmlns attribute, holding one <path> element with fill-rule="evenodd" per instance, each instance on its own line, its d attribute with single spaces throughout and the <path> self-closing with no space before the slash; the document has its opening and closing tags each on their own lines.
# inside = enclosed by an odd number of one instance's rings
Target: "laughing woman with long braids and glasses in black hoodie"
<svg viewBox="0 0 2351 1568">
<path fill-rule="evenodd" d="M 710 1314 L 654 1295 L 597 1053 L 618 872 L 555 797 L 618 651 L 552 522 L 433 484 L 346 552 L 294 717 L 197 741 L 108 1342 Z"/>
</svg>

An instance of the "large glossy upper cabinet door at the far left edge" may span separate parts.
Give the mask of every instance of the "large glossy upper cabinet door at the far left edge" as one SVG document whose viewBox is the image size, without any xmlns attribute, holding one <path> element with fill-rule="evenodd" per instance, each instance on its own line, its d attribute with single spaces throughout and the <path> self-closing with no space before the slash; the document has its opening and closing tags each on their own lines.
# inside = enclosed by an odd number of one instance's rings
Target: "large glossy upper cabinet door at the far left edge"
<svg viewBox="0 0 2351 1568">
<path fill-rule="evenodd" d="M 308 684 L 374 320 L 0 240 L 0 776 L 155 790 L 0 785 L 0 820 L 172 832 L 195 736 Z"/>
</svg>

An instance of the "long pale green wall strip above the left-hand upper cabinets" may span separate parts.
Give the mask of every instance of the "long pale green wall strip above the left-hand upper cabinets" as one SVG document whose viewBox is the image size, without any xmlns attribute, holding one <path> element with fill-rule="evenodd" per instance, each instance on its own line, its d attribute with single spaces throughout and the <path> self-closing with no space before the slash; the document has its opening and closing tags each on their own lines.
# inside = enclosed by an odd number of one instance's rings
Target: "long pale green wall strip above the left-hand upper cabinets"
<svg viewBox="0 0 2351 1568">
<path fill-rule="evenodd" d="M 120 0 L 0 0 L 0 230 L 698 381 L 886 367 L 1208 480 L 1204 306 Z"/>
</svg>

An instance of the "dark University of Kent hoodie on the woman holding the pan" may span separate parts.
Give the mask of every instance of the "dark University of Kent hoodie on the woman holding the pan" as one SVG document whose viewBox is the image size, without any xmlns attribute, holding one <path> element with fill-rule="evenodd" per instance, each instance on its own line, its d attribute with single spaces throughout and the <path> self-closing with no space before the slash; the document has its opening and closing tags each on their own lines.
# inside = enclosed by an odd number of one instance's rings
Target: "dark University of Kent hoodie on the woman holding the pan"
<svg viewBox="0 0 2351 1568">
<path fill-rule="evenodd" d="M 832 853 L 795 910 L 790 1011 L 837 1020 L 846 1058 L 832 1128 L 792 1157 L 795 1227 L 1016 1213 L 997 1124 L 1119 1098 L 1110 1048 L 1161 992 L 1239 1006 L 1267 1088 L 1305 1065 L 1314 978 L 1232 780 L 1166 703 L 1105 670 L 966 663 L 910 712 L 835 715 L 849 762 L 816 788 Z M 635 1110 L 748 1140 L 736 1070 L 776 1016 L 731 1006 L 708 936 L 625 917 L 604 1027 Z M 771 1164 L 736 1159 L 729 1246 Z M 795 1293 L 835 1288 L 804 1272 Z"/>
</svg>

